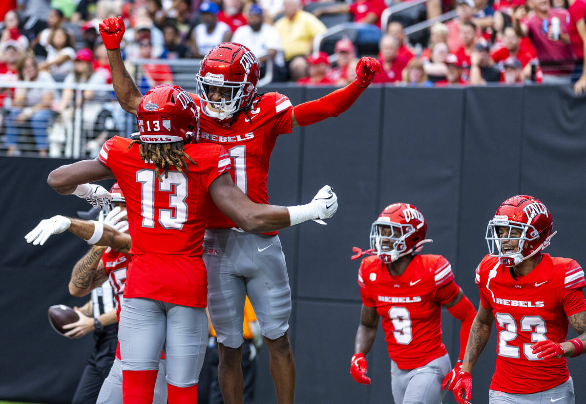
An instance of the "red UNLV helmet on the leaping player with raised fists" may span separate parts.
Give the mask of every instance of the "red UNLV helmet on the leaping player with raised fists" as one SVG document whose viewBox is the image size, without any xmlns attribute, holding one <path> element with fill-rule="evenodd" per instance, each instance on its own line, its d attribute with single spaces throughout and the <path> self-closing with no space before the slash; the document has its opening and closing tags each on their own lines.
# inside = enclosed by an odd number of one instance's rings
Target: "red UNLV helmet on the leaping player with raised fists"
<svg viewBox="0 0 586 404">
<path fill-rule="evenodd" d="M 254 53 L 236 42 L 224 42 L 214 47 L 202 60 L 197 73 L 197 95 L 203 113 L 224 120 L 246 109 L 256 94 L 260 65 Z M 230 100 L 210 101 L 209 86 L 231 90 Z"/>
</svg>

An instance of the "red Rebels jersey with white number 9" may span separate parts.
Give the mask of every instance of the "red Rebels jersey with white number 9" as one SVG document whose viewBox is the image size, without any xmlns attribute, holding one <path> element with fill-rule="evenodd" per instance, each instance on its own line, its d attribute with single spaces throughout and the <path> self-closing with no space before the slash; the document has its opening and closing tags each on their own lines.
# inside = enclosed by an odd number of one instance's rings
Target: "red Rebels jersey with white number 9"
<svg viewBox="0 0 586 404">
<path fill-rule="evenodd" d="M 441 342 L 441 305 L 459 293 L 447 259 L 415 255 L 403 275 L 394 277 L 377 256 L 366 257 L 358 284 L 362 303 L 376 307 L 383 318 L 389 357 L 399 369 L 420 368 L 447 354 Z"/>
</svg>

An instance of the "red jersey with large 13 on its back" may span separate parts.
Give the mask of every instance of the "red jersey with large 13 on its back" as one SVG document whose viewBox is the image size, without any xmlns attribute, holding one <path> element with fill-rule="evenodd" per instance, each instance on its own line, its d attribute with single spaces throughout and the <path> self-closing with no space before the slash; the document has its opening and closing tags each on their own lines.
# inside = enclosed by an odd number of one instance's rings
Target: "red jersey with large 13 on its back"
<svg viewBox="0 0 586 404">
<path fill-rule="evenodd" d="M 213 205 L 208 188 L 231 168 L 220 145 L 186 144 L 189 173 L 169 170 L 159 182 L 155 164 L 141 160 L 138 144 L 113 137 L 98 159 L 112 170 L 124 193 L 132 262 L 124 297 L 206 307 L 203 235 Z M 173 167 L 172 167 L 173 168 Z"/>
</svg>

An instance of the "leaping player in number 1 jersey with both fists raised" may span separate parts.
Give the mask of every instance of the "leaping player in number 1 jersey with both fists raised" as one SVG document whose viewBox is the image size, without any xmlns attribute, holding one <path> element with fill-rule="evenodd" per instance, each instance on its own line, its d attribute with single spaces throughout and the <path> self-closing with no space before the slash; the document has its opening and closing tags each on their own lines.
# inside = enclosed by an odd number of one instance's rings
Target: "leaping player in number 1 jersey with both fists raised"
<svg viewBox="0 0 586 404">
<path fill-rule="evenodd" d="M 135 114 L 141 93 L 120 54 L 121 17 L 105 19 L 100 34 L 108 49 L 114 91 L 122 108 Z M 268 203 L 267 177 L 277 136 L 346 111 L 380 73 L 379 62 L 363 57 L 356 80 L 321 99 L 293 107 L 279 93 L 257 94 L 259 64 L 246 47 L 226 42 L 210 51 L 196 75 L 193 99 L 203 111 L 201 140 L 222 144 L 234 165 L 234 182 L 257 203 Z M 288 338 L 291 289 L 276 232 L 250 235 L 214 209 L 207 226 L 204 255 L 209 282 L 209 311 L 219 342 L 219 382 L 226 402 L 243 402 L 240 368 L 244 300 L 250 298 L 270 352 L 277 401 L 292 404 L 295 360 Z M 247 245 L 246 251 L 241 245 Z M 224 246 L 224 247 L 223 247 Z M 265 250 L 265 247 L 267 249 Z M 240 258 L 246 256 L 246 259 Z M 251 265 L 254 270 L 251 270 Z M 227 298 L 228 296 L 228 298 Z M 274 310 L 271 307 L 280 307 Z M 234 310 L 234 307 L 236 310 Z"/>
</svg>

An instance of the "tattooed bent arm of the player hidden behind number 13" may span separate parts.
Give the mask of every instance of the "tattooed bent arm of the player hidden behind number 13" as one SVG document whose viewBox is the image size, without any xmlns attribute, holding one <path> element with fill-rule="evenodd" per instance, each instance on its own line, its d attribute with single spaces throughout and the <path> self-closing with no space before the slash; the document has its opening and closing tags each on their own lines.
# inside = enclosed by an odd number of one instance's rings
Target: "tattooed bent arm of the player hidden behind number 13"
<svg viewBox="0 0 586 404">
<path fill-rule="evenodd" d="M 104 264 L 101 262 L 102 254 L 107 247 L 93 246 L 73 267 L 71 280 L 69 281 L 69 293 L 73 296 L 86 296 L 90 291 L 107 279 Z M 100 268 L 101 267 L 101 268 Z M 96 281 L 97 284 L 94 284 Z"/>
</svg>

